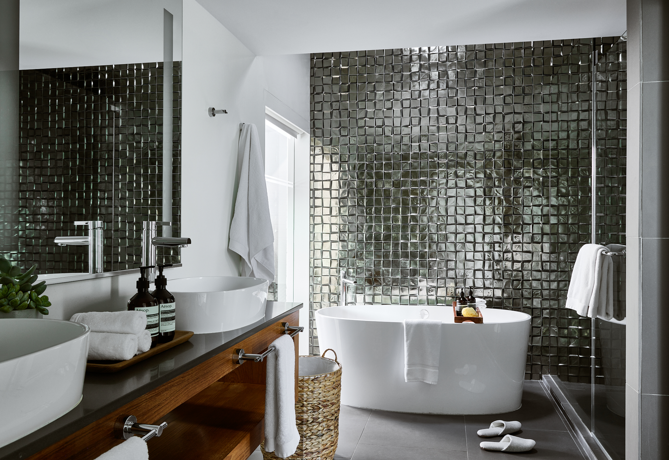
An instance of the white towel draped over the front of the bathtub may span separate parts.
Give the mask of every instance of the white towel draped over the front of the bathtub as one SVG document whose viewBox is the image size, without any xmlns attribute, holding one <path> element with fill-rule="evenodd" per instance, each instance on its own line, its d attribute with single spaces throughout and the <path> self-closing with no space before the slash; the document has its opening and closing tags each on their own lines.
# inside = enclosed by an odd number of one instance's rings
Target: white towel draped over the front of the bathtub
<svg viewBox="0 0 669 460">
<path fill-rule="evenodd" d="M 441 320 L 404 320 L 404 380 L 436 385 L 441 348 Z"/>
</svg>

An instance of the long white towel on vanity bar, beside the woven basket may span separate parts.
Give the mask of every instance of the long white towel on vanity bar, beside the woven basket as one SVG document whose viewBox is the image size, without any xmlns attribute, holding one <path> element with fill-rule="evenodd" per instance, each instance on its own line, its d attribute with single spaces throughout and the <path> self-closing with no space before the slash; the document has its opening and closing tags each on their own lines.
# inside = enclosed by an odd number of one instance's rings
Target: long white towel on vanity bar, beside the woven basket
<svg viewBox="0 0 669 460">
<path fill-rule="evenodd" d="M 265 389 L 265 451 L 285 459 L 300 443 L 295 420 L 295 344 L 280 336 L 267 356 Z"/>
</svg>

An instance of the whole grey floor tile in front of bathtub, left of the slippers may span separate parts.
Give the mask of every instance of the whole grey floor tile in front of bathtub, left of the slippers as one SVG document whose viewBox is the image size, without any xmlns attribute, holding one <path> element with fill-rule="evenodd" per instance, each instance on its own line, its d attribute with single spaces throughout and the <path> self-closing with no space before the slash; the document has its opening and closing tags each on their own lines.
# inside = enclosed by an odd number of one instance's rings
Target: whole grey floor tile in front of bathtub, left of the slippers
<svg viewBox="0 0 669 460">
<path fill-rule="evenodd" d="M 372 411 L 359 442 L 446 451 L 467 449 L 462 415 Z"/>
</svg>

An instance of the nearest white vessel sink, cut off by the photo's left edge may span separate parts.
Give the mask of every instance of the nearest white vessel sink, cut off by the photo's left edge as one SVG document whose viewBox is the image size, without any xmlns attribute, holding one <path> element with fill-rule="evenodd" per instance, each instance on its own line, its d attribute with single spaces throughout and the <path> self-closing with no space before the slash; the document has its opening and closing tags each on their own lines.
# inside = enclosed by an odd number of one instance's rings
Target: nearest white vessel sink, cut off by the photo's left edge
<svg viewBox="0 0 669 460">
<path fill-rule="evenodd" d="M 69 321 L 0 320 L 0 447 L 79 404 L 88 333 Z"/>
</svg>

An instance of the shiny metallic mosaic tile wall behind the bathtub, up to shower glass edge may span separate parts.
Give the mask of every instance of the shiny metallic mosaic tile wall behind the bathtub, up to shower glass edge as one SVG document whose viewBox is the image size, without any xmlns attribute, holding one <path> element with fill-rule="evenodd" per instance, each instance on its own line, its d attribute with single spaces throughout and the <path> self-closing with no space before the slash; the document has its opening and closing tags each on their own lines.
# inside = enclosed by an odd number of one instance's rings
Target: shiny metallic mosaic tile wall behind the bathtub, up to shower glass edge
<svg viewBox="0 0 669 460">
<path fill-rule="evenodd" d="M 563 306 L 590 242 L 591 54 L 615 41 L 312 55 L 312 312 L 340 269 L 349 302 L 474 285 L 533 317 L 527 378 L 590 382 L 590 321 Z"/>
</svg>

